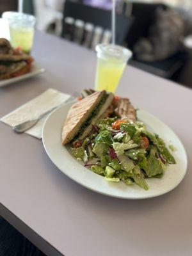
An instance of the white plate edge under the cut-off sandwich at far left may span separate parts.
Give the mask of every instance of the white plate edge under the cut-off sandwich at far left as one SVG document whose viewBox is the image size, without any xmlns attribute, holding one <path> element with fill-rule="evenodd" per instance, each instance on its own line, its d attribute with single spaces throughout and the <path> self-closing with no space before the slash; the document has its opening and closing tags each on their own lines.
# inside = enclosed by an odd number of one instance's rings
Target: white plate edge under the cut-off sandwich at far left
<svg viewBox="0 0 192 256">
<path fill-rule="evenodd" d="M 42 68 L 37 64 L 32 64 L 31 71 L 29 73 L 26 73 L 26 74 L 24 74 L 22 76 L 18 76 L 18 77 L 13 77 L 13 78 L 10 78 L 10 79 L 0 80 L 0 87 L 22 81 L 22 80 L 27 79 L 29 77 L 37 76 L 38 74 L 41 74 L 43 72 L 45 72 L 45 68 Z"/>
</svg>

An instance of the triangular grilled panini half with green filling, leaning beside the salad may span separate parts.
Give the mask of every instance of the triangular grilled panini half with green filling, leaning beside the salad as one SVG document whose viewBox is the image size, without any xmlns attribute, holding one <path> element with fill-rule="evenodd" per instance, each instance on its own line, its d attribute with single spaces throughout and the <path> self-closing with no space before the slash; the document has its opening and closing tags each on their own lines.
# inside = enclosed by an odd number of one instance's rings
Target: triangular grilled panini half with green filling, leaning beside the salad
<svg viewBox="0 0 192 256">
<path fill-rule="evenodd" d="M 78 138 L 83 140 L 99 116 L 109 107 L 113 100 L 113 93 L 106 91 L 95 92 L 74 104 L 68 111 L 62 130 L 63 145 Z"/>
</svg>

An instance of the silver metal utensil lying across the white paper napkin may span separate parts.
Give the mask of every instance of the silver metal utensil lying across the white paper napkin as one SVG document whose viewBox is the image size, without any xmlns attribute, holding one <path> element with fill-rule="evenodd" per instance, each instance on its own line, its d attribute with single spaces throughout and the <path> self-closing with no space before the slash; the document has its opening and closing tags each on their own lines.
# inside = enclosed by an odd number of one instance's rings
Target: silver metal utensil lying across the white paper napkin
<svg viewBox="0 0 192 256">
<path fill-rule="evenodd" d="M 74 95 L 75 95 L 75 93 L 74 93 Z M 51 113 L 54 109 L 60 108 L 61 106 L 65 105 L 69 102 L 73 102 L 73 101 L 76 102 L 76 97 L 74 95 L 70 96 L 65 102 L 63 102 L 59 106 L 56 106 L 52 109 L 49 109 L 48 111 L 46 111 L 42 115 L 38 116 L 38 118 L 35 118 L 33 120 L 28 120 L 26 122 L 23 122 L 21 124 L 13 126 L 13 131 L 17 132 L 17 133 L 22 133 L 22 132 L 28 131 L 30 128 L 32 128 L 34 125 L 36 125 L 41 118 L 43 118 L 45 115 Z"/>
</svg>

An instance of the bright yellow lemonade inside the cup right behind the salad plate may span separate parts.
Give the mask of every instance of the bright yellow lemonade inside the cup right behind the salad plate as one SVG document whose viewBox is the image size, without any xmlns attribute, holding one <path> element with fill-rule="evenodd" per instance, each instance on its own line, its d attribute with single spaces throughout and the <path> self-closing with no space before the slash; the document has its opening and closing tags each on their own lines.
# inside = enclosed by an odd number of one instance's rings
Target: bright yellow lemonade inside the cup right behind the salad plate
<svg viewBox="0 0 192 256">
<path fill-rule="evenodd" d="M 98 60 L 95 89 L 115 92 L 126 63 Z"/>
</svg>

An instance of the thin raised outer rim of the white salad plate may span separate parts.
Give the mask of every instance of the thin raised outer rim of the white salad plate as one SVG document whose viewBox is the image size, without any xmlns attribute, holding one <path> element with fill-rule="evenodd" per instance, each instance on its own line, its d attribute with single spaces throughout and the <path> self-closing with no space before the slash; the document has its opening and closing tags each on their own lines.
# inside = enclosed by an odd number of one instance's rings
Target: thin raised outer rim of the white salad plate
<svg viewBox="0 0 192 256">
<path fill-rule="evenodd" d="M 51 118 L 52 115 L 54 115 L 57 111 L 60 111 L 61 108 L 66 108 L 66 106 L 70 106 L 72 103 L 69 102 L 68 104 L 65 104 L 64 106 L 61 106 L 60 108 L 57 108 L 57 109 L 54 109 L 54 111 L 52 111 L 52 113 L 47 116 L 45 122 L 44 122 L 44 126 L 43 126 L 43 130 L 42 130 L 42 143 L 44 145 L 44 150 L 47 154 L 47 156 L 49 157 L 49 159 L 51 160 L 51 162 L 56 166 L 56 168 L 58 168 L 58 170 L 60 170 L 60 167 L 58 166 L 57 163 L 54 162 L 54 160 L 52 160 L 52 157 L 49 155 L 49 152 L 47 152 L 47 148 L 45 147 L 45 132 L 44 132 L 44 129 L 47 125 L 47 122 L 49 120 L 49 118 Z M 74 104 L 74 103 L 73 103 Z M 110 196 L 110 197 L 113 197 L 113 198 L 119 198 L 119 199 L 129 199 L 129 200 L 143 200 L 143 199 L 148 199 L 148 198 L 154 198 L 154 197 L 157 197 L 157 196 L 161 196 L 161 195 L 165 195 L 166 193 L 169 193 L 170 191 L 172 191 L 173 189 L 177 188 L 177 186 L 179 186 L 180 182 L 182 182 L 182 180 L 184 179 L 185 175 L 186 175 L 186 172 L 188 170 L 188 156 L 186 154 L 186 149 L 184 148 L 184 145 L 182 143 L 182 141 L 180 140 L 179 136 L 177 136 L 177 134 L 172 130 L 172 128 L 170 128 L 167 124 L 165 124 L 163 121 L 161 121 L 159 118 L 157 118 L 156 116 L 152 115 L 151 113 L 149 113 L 148 111 L 146 111 L 145 109 L 138 109 L 138 111 L 143 111 L 144 113 L 147 113 L 147 115 L 149 115 L 150 117 L 152 118 L 155 118 L 158 122 L 160 122 L 161 124 L 163 124 L 166 129 L 169 129 L 170 131 L 173 132 L 173 134 L 177 137 L 177 140 L 179 140 L 180 144 L 182 145 L 182 150 L 184 151 L 184 161 L 185 161 L 185 168 L 184 168 L 184 172 L 182 174 L 182 176 L 180 177 L 180 180 L 175 184 L 175 186 L 172 188 L 170 187 L 170 189 L 167 189 L 165 192 L 161 192 L 159 191 L 159 193 L 154 193 L 153 195 L 143 195 L 143 196 L 121 196 L 121 195 L 111 195 L 111 193 L 105 193 L 104 191 L 99 191 L 99 189 L 94 189 L 86 184 L 82 184 L 81 182 L 79 182 L 78 180 L 76 179 L 72 179 L 72 177 L 70 177 L 70 175 L 68 175 L 67 172 L 63 172 L 62 170 L 60 170 L 61 173 L 63 173 L 64 175 L 66 175 L 69 179 L 73 180 L 74 182 L 76 182 L 77 184 L 83 186 L 84 188 L 86 189 L 89 189 L 91 191 L 94 191 L 96 193 L 99 193 L 101 195 L 106 195 L 106 196 Z M 81 164 L 80 164 L 81 165 Z M 150 189 L 150 188 L 149 188 Z"/>
</svg>

